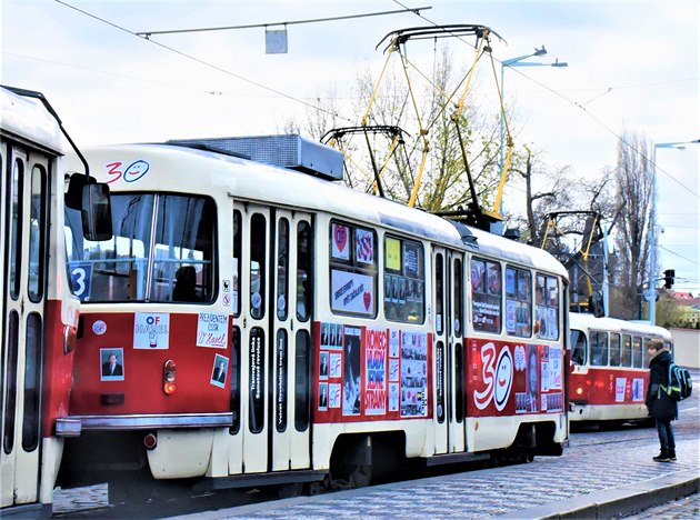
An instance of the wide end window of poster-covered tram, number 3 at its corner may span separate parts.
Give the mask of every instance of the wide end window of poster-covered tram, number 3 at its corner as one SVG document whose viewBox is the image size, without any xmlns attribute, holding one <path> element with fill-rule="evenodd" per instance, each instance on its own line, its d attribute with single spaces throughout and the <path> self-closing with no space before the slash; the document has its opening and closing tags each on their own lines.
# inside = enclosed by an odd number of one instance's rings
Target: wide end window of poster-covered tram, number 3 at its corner
<svg viewBox="0 0 700 520">
<path fill-rule="evenodd" d="M 211 199 L 113 193 L 110 240 L 82 238 L 67 209 L 68 264 L 81 301 L 209 302 L 214 296 L 216 209 Z"/>
</svg>

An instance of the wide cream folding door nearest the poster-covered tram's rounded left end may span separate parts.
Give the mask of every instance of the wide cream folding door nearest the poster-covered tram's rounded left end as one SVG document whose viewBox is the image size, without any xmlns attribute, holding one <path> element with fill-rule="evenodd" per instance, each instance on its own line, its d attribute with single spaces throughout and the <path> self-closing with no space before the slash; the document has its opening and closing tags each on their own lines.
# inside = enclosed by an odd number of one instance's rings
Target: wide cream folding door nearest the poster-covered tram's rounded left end
<svg viewBox="0 0 700 520">
<path fill-rule="evenodd" d="M 312 258 L 311 220 L 256 204 L 234 208 L 242 244 L 236 268 L 240 316 L 233 319 L 241 359 L 236 436 L 242 442 L 231 444 L 231 472 L 309 468 L 311 300 L 302 296 L 311 290 L 304 278 L 310 276 L 304 259 Z"/>
</svg>

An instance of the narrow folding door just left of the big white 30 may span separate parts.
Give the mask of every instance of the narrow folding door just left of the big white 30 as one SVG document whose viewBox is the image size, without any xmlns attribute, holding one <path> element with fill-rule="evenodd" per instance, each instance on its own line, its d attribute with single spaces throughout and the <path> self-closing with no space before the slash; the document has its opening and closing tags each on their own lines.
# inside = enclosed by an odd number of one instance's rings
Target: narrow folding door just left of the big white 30
<svg viewBox="0 0 700 520">
<path fill-rule="evenodd" d="M 462 254 L 432 248 L 436 453 L 464 451 Z"/>
</svg>

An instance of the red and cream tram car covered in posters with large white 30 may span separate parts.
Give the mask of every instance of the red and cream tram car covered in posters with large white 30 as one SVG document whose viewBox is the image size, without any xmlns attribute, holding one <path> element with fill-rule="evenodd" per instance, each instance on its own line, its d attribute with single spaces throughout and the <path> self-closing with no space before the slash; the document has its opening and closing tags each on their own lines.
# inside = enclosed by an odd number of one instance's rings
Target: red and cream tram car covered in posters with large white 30
<svg viewBox="0 0 700 520">
<path fill-rule="evenodd" d="M 67 474 L 362 486 L 392 460 L 561 452 L 553 257 L 339 186 L 299 137 L 243 140 L 290 168 L 232 141 L 86 151 L 114 237 L 73 232 Z"/>
</svg>

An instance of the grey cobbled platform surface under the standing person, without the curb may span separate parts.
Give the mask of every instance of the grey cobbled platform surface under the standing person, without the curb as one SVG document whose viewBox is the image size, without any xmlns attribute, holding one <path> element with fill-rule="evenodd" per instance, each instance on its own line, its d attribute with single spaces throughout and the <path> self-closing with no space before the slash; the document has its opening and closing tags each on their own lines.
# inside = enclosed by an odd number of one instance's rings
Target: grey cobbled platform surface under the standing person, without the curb
<svg viewBox="0 0 700 520">
<path fill-rule="evenodd" d="M 648 430 L 653 433 L 653 430 Z M 572 448 L 561 458 L 536 458 L 532 463 L 388 484 L 310 502 L 239 508 L 210 518 L 484 518 L 511 516 L 536 506 L 586 496 L 686 470 L 700 469 L 698 438 L 678 442 L 683 460 L 653 462 L 656 438 Z M 651 518 L 651 517 L 641 517 Z"/>
</svg>

